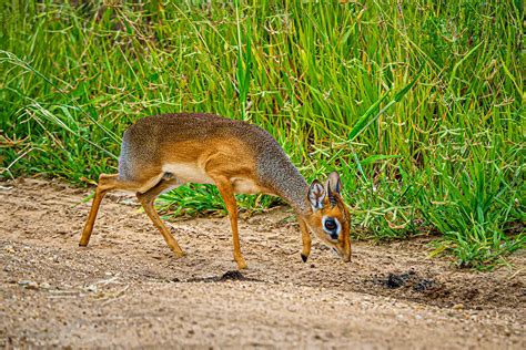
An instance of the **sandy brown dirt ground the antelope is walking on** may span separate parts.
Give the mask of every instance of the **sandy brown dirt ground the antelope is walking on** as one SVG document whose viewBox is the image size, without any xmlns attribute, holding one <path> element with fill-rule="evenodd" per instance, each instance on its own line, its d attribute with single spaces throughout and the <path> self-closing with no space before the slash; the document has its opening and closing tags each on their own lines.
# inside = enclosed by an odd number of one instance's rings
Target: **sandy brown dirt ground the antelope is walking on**
<svg viewBox="0 0 526 350">
<path fill-rule="evenodd" d="M 300 257 L 289 208 L 169 223 L 174 259 L 132 196 L 104 199 L 78 247 L 89 192 L 0 183 L 0 347 L 525 349 L 526 255 L 494 272 L 428 257 L 429 238 L 353 243 L 342 262 L 314 238 Z"/>
</svg>

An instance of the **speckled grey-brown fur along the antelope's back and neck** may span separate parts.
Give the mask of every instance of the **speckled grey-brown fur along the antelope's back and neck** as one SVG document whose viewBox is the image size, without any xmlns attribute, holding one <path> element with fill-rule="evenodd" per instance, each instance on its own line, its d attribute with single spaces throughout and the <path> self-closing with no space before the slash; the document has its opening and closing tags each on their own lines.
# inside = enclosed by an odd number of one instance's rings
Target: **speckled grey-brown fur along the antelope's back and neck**
<svg viewBox="0 0 526 350">
<path fill-rule="evenodd" d="M 170 135 L 166 140 L 166 135 Z M 162 143 L 236 137 L 256 157 L 257 181 L 291 204 L 299 213 L 308 210 L 307 184 L 277 142 L 263 128 L 215 114 L 179 113 L 148 116 L 130 126 L 122 137 L 119 176 L 132 178 L 140 159 L 161 162 Z"/>
</svg>

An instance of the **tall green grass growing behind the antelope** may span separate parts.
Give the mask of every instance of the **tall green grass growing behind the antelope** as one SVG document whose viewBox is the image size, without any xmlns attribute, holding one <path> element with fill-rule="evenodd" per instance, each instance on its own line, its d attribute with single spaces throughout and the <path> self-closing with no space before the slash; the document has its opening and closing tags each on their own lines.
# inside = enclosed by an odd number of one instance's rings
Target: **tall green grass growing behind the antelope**
<svg viewBox="0 0 526 350">
<path fill-rule="evenodd" d="M 58 2 L 0 4 L 2 177 L 93 183 L 135 120 L 214 112 L 338 169 L 354 235 L 437 233 L 481 269 L 524 247 L 522 1 Z M 160 205 L 224 213 L 203 185 Z"/>
</svg>

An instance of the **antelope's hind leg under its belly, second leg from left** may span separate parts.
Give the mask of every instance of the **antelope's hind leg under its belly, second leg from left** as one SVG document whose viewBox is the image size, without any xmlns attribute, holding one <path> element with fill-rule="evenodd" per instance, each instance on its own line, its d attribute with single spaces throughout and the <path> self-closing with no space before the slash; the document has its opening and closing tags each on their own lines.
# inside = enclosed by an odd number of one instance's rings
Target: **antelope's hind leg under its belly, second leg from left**
<svg viewBox="0 0 526 350">
<path fill-rule="evenodd" d="M 156 184 L 155 186 L 153 186 L 145 193 L 136 193 L 136 197 L 139 198 L 139 202 L 141 202 L 142 207 L 144 208 L 144 212 L 150 217 L 153 225 L 159 229 L 159 231 L 163 236 L 168 246 L 172 249 L 175 256 L 180 258 L 184 256 L 184 251 L 181 249 L 178 241 L 175 240 L 175 238 L 173 238 L 172 234 L 163 224 L 163 222 L 159 217 L 159 214 L 155 212 L 155 208 L 153 207 L 153 202 L 155 200 L 156 196 L 159 196 L 163 191 L 170 187 L 175 187 L 178 185 L 180 185 L 180 183 L 176 179 L 162 178 L 161 182 L 159 182 L 159 184 Z"/>
</svg>

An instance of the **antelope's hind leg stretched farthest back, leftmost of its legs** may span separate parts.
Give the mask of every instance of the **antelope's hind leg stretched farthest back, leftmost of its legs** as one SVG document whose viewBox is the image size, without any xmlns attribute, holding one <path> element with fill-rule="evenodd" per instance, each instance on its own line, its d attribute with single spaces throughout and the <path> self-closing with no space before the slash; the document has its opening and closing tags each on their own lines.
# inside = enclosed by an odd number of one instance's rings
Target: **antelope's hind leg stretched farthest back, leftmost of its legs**
<svg viewBox="0 0 526 350">
<path fill-rule="evenodd" d="M 97 213 L 104 195 L 112 189 L 132 189 L 136 188 L 135 183 L 120 181 L 118 174 L 101 174 L 99 176 L 99 184 L 97 186 L 95 196 L 91 204 L 90 215 L 85 222 L 82 236 L 80 237 L 79 246 L 85 247 L 90 241 L 91 233 L 93 231 L 93 225 L 95 223 Z"/>
</svg>

